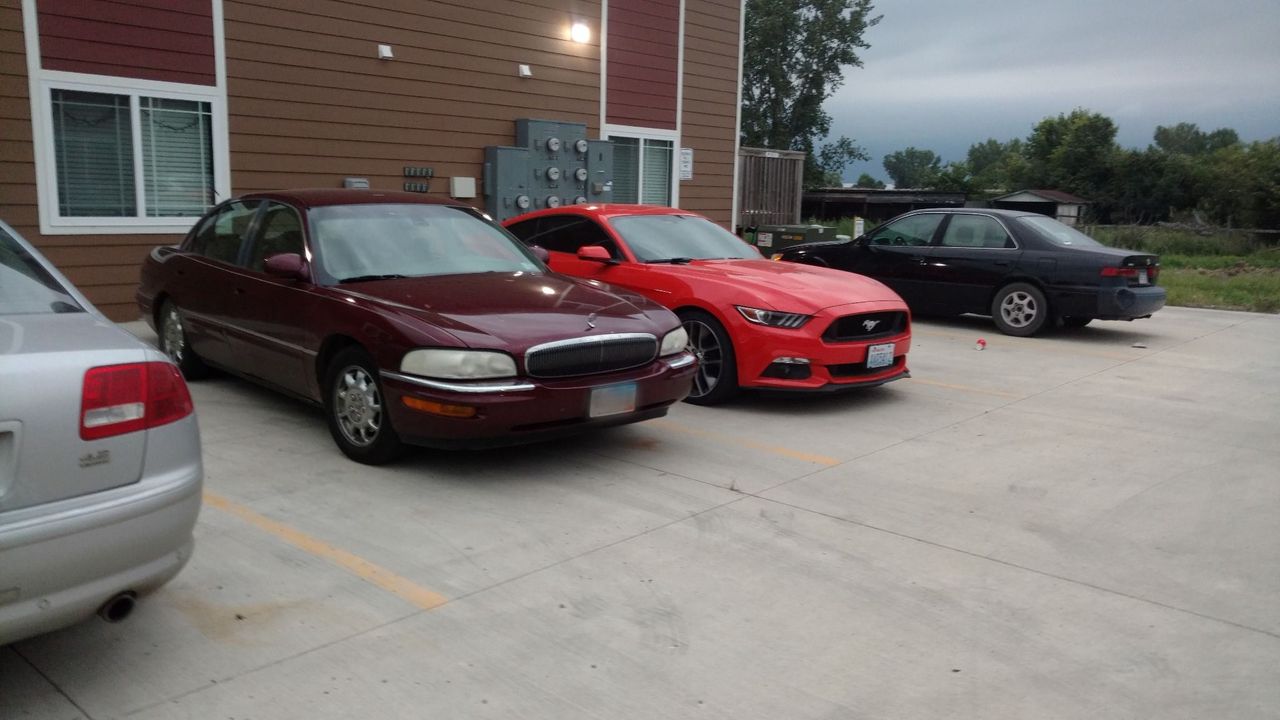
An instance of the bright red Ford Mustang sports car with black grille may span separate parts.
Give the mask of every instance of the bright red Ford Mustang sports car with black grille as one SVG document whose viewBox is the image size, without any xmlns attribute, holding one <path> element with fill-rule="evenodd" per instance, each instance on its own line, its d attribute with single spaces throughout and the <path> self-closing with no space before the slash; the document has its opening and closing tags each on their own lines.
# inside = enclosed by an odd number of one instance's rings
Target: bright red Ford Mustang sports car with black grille
<svg viewBox="0 0 1280 720">
<path fill-rule="evenodd" d="M 700 361 L 690 402 L 721 402 L 740 387 L 833 391 L 908 374 L 910 313 L 870 278 L 764 260 L 675 208 L 571 205 L 504 224 L 548 250 L 553 270 L 675 310 Z"/>
</svg>

